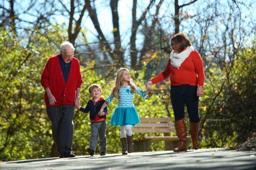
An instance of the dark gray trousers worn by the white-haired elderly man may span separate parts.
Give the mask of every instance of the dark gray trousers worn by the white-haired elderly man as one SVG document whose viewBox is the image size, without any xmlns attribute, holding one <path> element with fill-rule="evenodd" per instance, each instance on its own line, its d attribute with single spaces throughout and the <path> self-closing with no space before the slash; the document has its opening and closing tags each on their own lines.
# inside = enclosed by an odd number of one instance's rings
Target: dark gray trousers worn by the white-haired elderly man
<svg viewBox="0 0 256 170">
<path fill-rule="evenodd" d="M 74 105 L 46 106 L 46 112 L 52 123 L 52 135 L 60 154 L 71 151 L 75 114 Z"/>
</svg>

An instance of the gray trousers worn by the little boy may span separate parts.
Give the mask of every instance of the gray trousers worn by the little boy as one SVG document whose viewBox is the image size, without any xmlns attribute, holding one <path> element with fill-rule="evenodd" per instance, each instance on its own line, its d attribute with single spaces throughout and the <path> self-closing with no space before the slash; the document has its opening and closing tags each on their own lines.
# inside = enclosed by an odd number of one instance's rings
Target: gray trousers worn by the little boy
<svg viewBox="0 0 256 170">
<path fill-rule="evenodd" d="M 106 121 L 91 123 L 91 137 L 90 148 L 94 151 L 97 147 L 98 137 L 100 139 L 100 152 L 106 152 L 107 137 L 106 137 L 107 124 Z"/>
</svg>

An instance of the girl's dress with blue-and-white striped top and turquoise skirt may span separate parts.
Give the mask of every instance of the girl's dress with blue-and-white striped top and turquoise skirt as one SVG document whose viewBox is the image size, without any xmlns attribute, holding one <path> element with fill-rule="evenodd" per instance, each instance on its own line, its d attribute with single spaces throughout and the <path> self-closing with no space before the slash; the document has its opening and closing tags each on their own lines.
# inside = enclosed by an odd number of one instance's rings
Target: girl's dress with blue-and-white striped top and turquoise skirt
<svg viewBox="0 0 256 170">
<path fill-rule="evenodd" d="M 135 86 L 136 91 L 135 93 L 143 97 L 144 99 L 147 97 L 146 91 L 140 90 L 137 86 Z M 134 94 L 131 93 L 130 86 L 121 86 L 119 89 L 119 98 L 118 98 L 118 105 L 115 108 L 114 113 L 112 114 L 110 124 L 111 125 L 136 125 L 140 123 L 140 118 L 137 112 L 137 109 L 133 105 L 133 96 Z M 108 104 L 114 99 L 114 96 L 111 94 L 106 101 Z"/>
</svg>

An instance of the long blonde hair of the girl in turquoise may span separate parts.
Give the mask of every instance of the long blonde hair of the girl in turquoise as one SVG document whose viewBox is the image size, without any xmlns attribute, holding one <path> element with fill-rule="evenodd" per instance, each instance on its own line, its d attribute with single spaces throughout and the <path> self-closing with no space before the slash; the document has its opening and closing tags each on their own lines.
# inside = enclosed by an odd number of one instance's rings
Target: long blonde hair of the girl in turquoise
<svg viewBox="0 0 256 170">
<path fill-rule="evenodd" d="M 124 67 L 121 67 L 117 73 L 116 73 L 116 78 L 115 78 L 115 87 L 112 89 L 111 91 L 111 94 L 116 97 L 116 98 L 119 98 L 118 95 L 119 95 L 119 89 L 120 87 L 122 86 L 122 83 L 123 83 L 123 80 L 122 80 L 122 77 L 123 77 L 123 73 L 124 71 L 127 71 L 129 72 L 128 69 L 124 68 Z M 130 82 L 128 82 L 129 86 L 132 88 L 131 92 L 134 93 L 136 91 L 136 88 L 135 88 L 135 85 L 132 81 L 132 79 L 130 79 Z"/>
</svg>

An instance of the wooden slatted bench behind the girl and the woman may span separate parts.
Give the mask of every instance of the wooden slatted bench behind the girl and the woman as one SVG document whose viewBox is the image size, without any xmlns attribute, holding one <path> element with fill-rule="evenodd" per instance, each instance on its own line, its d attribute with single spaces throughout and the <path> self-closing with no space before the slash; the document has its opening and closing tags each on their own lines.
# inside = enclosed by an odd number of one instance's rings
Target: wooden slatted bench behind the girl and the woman
<svg viewBox="0 0 256 170">
<path fill-rule="evenodd" d="M 164 136 L 134 139 L 134 151 L 151 151 L 150 146 L 153 141 L 165 141 L 165 150 L 173 150 L 179 145 L 178 137 L 173 136 L 176 134 L 176 130 L 172 118 L 140 118 L 140 122 L 141 123 L 133 127 L 132 131 L 134 133 L 163 133 Z M 191 137 L 188 136 L 187 146 L 190 141 Z"/>
</svg>

